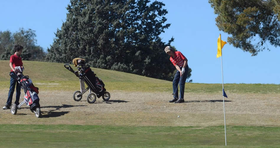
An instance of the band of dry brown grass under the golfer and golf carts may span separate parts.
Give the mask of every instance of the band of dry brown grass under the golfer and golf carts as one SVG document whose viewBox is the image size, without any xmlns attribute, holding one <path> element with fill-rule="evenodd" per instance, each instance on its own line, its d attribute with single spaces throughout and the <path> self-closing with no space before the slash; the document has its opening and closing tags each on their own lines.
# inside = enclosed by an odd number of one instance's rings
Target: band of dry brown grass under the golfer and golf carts
<svg viewBox="0 0 280 148">
<path fill-rule="evenodd" d="M 5 104 L 8 89 L 0 93 Z M 224 125 L 221 94 L 187 93 L 185 103 L 169 103 L 171 93 L 112 91 L 111 99 L 94 104 L 73 100 L 72 91 L 40 91 L 42 118 L 24 104 L 12 115 L 0 110 L 0 124 L 77 124 L 113 126 L 217 126 Z M 23 96 L 23 92 L 21 94 Z M 226 124 L 279 126 L 280 94 L 228 94 Z M 22 97 L 21 97 L 22 98 Z M 15 96 L 13 97 L 13 100 Z M 22 101 L 22 99 L 20 99 Z M 178 118 L 178 115 L 180 118 Z"/>
</svg>

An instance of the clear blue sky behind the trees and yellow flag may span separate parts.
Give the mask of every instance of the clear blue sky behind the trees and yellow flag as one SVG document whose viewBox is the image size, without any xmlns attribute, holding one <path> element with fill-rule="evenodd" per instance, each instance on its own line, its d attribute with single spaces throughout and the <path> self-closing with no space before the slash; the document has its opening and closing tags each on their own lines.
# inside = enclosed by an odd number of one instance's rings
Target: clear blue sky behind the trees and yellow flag
<svg viewBox="0 0 280 148">
<path fill-rule="evenodd" d="M 222 40 L 227 41 L 231 35 L 219 31 L 214 9 L 208 1 L 159 1 L 165 3 L 164 8 L 168 10 L 165 17 L 171 23 L 160 37 L 164 42 L 172 36 L 175 38 L 172 46 L 187 57 L 193 83 L 222 83 L 221 58 L 216 58 L 217 39 L 221 34 Z M 0 30 L 12 33 L 19 28 L 35 30 L 37 45 L 47 49 L 57 28 L 66 20 L 67 4 L 69 0 L 1 1 Z M 268 47 L 271 51 L 264 50 L 252 57 L 232 45 L 224 45 L 224 83 L 280 84 L 280 47 L 269 44 Z"/>
</svg>

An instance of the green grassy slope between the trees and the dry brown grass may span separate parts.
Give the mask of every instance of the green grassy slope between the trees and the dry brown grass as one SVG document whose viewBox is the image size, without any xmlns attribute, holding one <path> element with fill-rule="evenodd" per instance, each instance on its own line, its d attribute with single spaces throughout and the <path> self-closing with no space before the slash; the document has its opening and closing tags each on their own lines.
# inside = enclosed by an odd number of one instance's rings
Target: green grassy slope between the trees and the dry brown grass
<svg viewBox="0 0 280 148">
<path fill-rule="evenodd" d="M 9 61 L 0 60 L 0 88 L 9 86 Z M 23 61 L 25 75 L 29 75 L 40 89 L 73 90 L 79 88 L 79 79 L 64 68 L 62 63 Z M 71 67 L 76 70 L 74 65 Z M 107 90 L 125 91 L 168 91 L 172 93 L 172 82 L 148 78 L 131 73 L 92 68 L 105 83 Z M 280 85 L 276 84 L 224 84 L 226 92 L 233 93 L 280 93 Z M 222 92 L 222 84 L 186 83 L 185 92 Z"/>
</svg>

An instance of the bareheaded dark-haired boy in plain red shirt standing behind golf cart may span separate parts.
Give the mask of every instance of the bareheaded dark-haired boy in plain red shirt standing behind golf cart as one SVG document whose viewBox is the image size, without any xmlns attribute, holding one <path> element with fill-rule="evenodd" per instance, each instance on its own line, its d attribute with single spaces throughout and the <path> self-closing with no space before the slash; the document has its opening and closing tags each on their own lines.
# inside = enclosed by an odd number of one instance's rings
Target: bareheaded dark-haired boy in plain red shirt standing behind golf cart
<svg viewBox="0 0 280 148">
<path fill-rule="evenodd" d="M 11 72 L 15 72 L 14 67 L 16 66 L 23 66 L 22 64 L 22 60 L 21 60 L 21 53 L 22 53 L 22 49 L 23 47 L 21 45 L 15 45 L 14 46 L 14 55 L 12 55 L 10 57 L 10 67 L 11 67 Z M 15 75 L 15 73 L 12 73 L 13 75 Z M 6 105 L 3 107 L 4 110 L 9 109 L 11 104 L 12 104 L 12 99 L 13 99 L 13 94 L 14 94 L 14 88 L 16 87 L 16 101 L 14 102 L 15 104 L 19 105 L 19 97 L 20 97 L 20 85 L 19 83 L 17 83 L 17 80 L 14 79 L 11 76 L 10 79 L 10 90 L 9 90 L 9 94 L 8 94 L 8 99 L 6 102 Z"/>
</svg>

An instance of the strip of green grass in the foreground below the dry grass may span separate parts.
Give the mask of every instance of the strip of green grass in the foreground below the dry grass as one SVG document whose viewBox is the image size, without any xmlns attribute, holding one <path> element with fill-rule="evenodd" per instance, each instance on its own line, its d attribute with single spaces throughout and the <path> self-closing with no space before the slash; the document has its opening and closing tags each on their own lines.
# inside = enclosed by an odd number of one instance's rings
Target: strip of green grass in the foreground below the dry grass
<svg viewBox="0 0 280 148">
<path fill-rule="evenodd" d="M 224 147 L 224 127 L 0 125 L 0 147 Z M 227 127 L 227 147 L 279 147 L 279 127 Z M 7 145 L 8 144 L 8 145 Z"/>
</svg>

